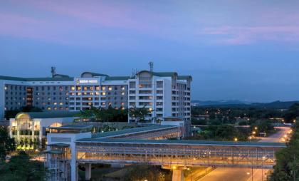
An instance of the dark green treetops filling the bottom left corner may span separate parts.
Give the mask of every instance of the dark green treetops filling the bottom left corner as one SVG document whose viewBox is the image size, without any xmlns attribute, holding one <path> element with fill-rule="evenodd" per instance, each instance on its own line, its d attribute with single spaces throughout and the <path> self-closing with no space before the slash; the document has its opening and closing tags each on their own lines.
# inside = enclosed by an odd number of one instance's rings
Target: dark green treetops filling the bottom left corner
<svg viewBox="0 0 299 181">
<path fill-rule="evenodd" d="M 43 162 L 32 161 L 25 152 L 11 157 L 9 162 L 0 164 L 0 178 L 3 181 L 45 180 Z"/>
</svg>

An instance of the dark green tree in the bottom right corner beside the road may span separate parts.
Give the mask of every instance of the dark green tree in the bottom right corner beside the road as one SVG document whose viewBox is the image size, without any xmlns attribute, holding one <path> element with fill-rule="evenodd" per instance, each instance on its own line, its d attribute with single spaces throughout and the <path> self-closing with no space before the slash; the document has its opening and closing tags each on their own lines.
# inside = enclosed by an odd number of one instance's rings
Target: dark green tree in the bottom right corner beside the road
<svg viewBox="0 0 299 181">
<path fill-rule="evenodd" d="M 293 135 L 287 148 L 276 152 L 276 165 L 271 175 L 271 181 L 299 180 L 299 125 L 293 126 Z"/>
</svg>

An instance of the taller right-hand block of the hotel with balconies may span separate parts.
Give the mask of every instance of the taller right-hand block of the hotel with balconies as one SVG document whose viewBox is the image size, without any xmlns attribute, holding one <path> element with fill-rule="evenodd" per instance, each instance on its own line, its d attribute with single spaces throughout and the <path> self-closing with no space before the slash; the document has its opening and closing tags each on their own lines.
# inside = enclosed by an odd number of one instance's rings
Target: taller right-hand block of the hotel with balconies
<svg viewBox="0 0 299 181">
<path fill-rule="evenodd" d="M 140 71 L 129 79 L 129 108 L 148 108 L 146 120 L 180 118 L 190 121 L 191 76 L 175 72 Z M 135 118 L 129 117 L 129 121 Z"/>
</svg>

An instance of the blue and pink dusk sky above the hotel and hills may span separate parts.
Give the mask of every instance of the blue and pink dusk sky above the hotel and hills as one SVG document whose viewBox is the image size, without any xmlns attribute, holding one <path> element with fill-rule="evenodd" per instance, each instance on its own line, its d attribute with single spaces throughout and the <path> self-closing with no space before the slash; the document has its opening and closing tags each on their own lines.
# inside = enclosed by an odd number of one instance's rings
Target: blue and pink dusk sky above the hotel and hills
<svg viewBox="0 0 299 181">
<path fill-rule="evenodd" d="M 299 1 L 0 0 L 0 75 L 191 75 L 193 100 L 299 100 Z"/>
</svg>

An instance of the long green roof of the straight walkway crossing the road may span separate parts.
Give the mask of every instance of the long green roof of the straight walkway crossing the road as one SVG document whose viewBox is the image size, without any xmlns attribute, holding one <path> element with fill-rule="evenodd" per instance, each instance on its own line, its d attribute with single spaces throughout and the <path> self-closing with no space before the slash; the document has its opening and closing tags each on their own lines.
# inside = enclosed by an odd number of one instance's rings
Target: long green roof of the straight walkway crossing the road
<svg viewBox="0 0 299 181">
<path fill-rule="evenodd" d="M 163 145 L 239 145 L 239 146 L 269 146 L 285 148 L 285 143 L 261 143 L 261 142 L 234 142 L 234 141 L 210 141 L 210 140 L 134 140 L 134 139 L 94 139 L 84 138 L 77 142 L 95 143 L 137 143 L 137 144 L 163 144 Z"/>
</svg>

